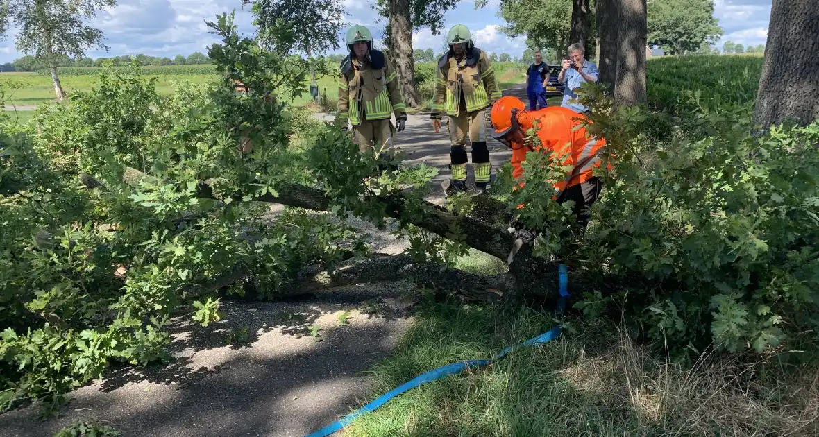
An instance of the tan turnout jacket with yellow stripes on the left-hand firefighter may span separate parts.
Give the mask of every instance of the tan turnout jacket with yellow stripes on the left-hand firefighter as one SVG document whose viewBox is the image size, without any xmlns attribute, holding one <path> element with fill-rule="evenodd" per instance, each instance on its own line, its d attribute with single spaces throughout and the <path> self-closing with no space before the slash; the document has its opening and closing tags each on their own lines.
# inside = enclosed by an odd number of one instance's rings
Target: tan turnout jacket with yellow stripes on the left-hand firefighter
<svg viewBox="0 0 819 437">
<path fill-rule="evenodd" d="M 398 75 L 391 62 L 378 50 L 369 61 L 360 63 L 347 56 L 338 73 L 338 115 L 346 115 L 354 126 L 364 119 L 406 119 L 406 104 L 398 87 Z"/>
</svg>

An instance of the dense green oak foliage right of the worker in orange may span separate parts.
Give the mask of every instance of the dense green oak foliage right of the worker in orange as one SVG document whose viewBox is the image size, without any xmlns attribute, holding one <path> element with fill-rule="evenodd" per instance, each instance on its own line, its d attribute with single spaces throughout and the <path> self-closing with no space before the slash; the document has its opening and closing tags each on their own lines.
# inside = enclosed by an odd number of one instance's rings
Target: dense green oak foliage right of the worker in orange
<svg viewBox="0 0 819 437">
<path fill-rule="evenodd" d="M 593 104 L 593 103 L 590 103 Z M 751 137 L 742 109 L 690 115 L 700 137 L 641 133 L 642 110 L 591 127 L 617 162 L 581 258 L 622 284 L 652 340 L 731 352 L 819 327 L 819 121 Z M 706 134 L 707 133 L 707 134 Z"/>
</svg>

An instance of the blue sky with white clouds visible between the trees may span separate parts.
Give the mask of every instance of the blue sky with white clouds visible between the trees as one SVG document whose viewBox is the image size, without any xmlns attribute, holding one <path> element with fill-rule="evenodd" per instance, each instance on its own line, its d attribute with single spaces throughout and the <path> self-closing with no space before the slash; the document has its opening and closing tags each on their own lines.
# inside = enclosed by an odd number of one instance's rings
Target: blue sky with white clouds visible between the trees
<svg viewBox="0 0 819 437">
<path fill-rule="evenodd" d="M 373 0 L 342 0 L 351 23 L 368 26 L 373 34 L 381 36 L 386 24 L 373 11 Z M 526 48 L 523 38 L 509 38 L 498 29 L 504 20 L 497 16 L 500 0 L 475 10 L 473 0 L 459 2 L 444 16 L 445 28 L 461 23 L 473 31 L 479 47 L 487 52 L 508 52 L 520 56 Z M 714 0 L 715 16 L 725 29 L 722 42 L 731 40 L 744 46 L 765 43 L 771 15 L 771 0 Z M 93 25 L 102 29 L 109 52 L 88 52 L 88 56 L 118 56 L 144 53 L 149 56 L 188 55 L 206 52 L 216 40 L 208 34 L 205 20 L 214 20 L 217 14 L 237 10 L 237 23 L 243 33 L 253 34 L 249 6 L 242 9 L 242 0 L 120 0 L 116 7 L 98 14 Z M 14 47 L 16 29 L 10 29 L 0 42 L 0 63 L 23 56 Z M 413 35 L 415 48 L 433 48 L 443 45 L 441 35 L 421 29 Z"/>
</svg>

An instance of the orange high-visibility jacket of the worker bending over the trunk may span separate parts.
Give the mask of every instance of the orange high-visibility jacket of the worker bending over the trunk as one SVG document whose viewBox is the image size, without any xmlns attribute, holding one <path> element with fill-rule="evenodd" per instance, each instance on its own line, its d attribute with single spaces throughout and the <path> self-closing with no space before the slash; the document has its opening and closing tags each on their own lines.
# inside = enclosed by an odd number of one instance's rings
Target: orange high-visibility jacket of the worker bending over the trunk
<svg viewBox="0 0 819 437">
<path fill-rule="evenodd" d="M 537 146 L 534 150 L 546 148 L 554 153 L 556 158 L 571 151 L 564 164 L 572 164 L 574 169 L 565 179 L 554 183 L 554 187 L 559 191 L 592 178 L 593 169 L 600 167 L 603 161 L 601 149 L 606 145 L 605 140 L 587 137 L 586 128 L 581 125 L 581 120 L 574 120 L 577 118 L 584 118 L 584 115 L 563 106 L 547 106 L 541 110 L 526 111 L 518 117 L 518 124 L 524 132 L 532 128 L 532 124 L 537 125 L 536 134 L 542 146 Z M 526 154 L 532 151 L 532 148 L 513 143 L 512 149 L 512 176 L 519 178 L 523 176 L 521 163 L 526 160 Z M 611 165 L 608 167 L 610 169 Z"/>
</svg>

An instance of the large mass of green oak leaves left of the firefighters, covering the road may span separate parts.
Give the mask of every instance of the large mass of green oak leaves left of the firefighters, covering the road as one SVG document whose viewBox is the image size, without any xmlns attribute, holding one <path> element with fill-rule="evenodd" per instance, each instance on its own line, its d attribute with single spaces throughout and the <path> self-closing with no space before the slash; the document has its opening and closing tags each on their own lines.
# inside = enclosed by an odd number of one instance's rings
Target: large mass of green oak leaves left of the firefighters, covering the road
<svg viewBox="0 0 819 437">
<path fill-rule="evenodd" d="M 254 51 L 224 16 L 212 26 L 221 65 Z M 286 88 L 307 68 L 272 53 L 241 61 L 247 70 L 218 87 L 165 99 L 135 70 L 109 69 L 99 88 L 39 110 L 42 133 L 2 134 L 0 411 L 29 398 L 58 406 L 111 361 L 164 358 L 170 318 L 218 320 L 242 278 L 265 298 L 305 264 L 364 250 L 327 215 L 287 210 L 269 223 L 252 201 L 310 176 L 305 147 L 288 141 L 305 122 L 274 98 L 234 96 L 231 81 Z M 310 124 L 315 137 L 327 130 Z"/>
</svg>

